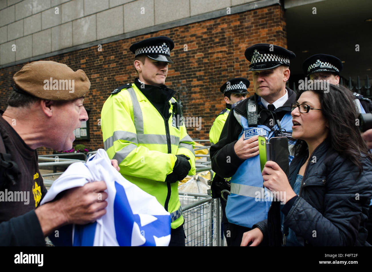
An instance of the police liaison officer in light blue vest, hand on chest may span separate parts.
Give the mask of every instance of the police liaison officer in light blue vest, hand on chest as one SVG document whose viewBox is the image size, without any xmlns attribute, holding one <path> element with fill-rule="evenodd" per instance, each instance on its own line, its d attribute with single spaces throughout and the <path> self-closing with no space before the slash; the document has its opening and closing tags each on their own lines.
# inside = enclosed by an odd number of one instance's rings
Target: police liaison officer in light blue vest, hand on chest
<svg viewBox="0 0 372 272">
<path fill-rule="evenodd" d="M 231 194 L 226 205 L 229 224 L 225 230 L 231 246 L 240 246 L 243 233 L 258 218 L 267 217 L 271 202 L 263 194 L 257 137 L 291 139 L 291 103 L 296 100 L 294 91 L 285 87 L 290 59 L 295 58 L 292 51 L 259 43 L 247 48 L 244 55 L 251 62 L 248 71 L 253 71 L 255 94 L 232 105 L 220 139 L 210 149 L 212 170 L 223 178 L 231 177 Z M 249 101 L 256 104 L 256 125 L 248 124 Z"/>
</svg>

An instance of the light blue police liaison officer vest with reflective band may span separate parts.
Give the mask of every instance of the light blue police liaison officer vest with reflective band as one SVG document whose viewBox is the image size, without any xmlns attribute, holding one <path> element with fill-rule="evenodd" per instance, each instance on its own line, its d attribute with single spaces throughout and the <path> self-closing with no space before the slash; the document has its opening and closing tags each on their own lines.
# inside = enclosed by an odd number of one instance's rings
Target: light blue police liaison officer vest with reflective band
<svg viewBox="0 0 372 272">
<path fill-rule="evenodd" d="M 235 114 L 234 114 L 235 115 Z M 235 116 L 236 117 L 236 116 Z M 249 127 L 245 117 L 240 116 L 240 124 L 243 127 L 239 137 L 244 140 L 256 135 L 274 137 L 274 130 L 269 127 L 257 125 Z M 280 120 L 282 129 L 292 133 L 292 116 L 288 111 Z M 275 129 L 279 129 L 275 125 Z M 289 145 L 291 151 L 293 143 Z M 291 154 L 291 152 L 289 152 Z M 291 163 L 293 156 L 289 156 Z M 226 216 L 230 223 L 251 228 L 254 224 L 267 218 L 271 202 L 273 200 L 270 191 L 263 187 L 263 178 L 260 167 L 259 155 L 246 159 L 231 177 L 231 194 L 227 198 Z"/>
</svg>

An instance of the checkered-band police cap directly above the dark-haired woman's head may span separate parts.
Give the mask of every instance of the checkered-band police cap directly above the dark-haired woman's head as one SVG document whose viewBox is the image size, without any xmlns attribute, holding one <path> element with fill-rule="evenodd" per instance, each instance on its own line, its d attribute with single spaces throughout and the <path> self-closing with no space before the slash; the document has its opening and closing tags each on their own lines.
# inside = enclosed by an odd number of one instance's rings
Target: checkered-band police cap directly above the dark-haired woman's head
<svg viewBox="0 0 372 272">
<path fill-rule="evenodd" d="M 340 59 L 326 54 L 313 55 L 302 64 L 302 71 L 306 76 L 316 72 L 333 72 L 340 75 L 342 68 Z"/>
</svg>

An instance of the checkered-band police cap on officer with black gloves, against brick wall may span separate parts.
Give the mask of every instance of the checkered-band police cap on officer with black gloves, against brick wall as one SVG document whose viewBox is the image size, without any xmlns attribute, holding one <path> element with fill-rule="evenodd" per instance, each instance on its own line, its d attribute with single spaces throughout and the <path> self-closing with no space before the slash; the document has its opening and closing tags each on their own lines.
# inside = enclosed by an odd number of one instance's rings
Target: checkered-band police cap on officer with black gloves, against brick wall
<svg viewBox="0 0 372 272">
<path fill-rule="evenodd" d="M 170 51 L 174 48 L 174 42 L 166 37 L 159 36 L 148 38 L 140 42 L 133 43 L 129 50 L 134 53 L 134 57 L 146 55 L 155 61 L 173 63 L 170 59 Z"/>
</svg>

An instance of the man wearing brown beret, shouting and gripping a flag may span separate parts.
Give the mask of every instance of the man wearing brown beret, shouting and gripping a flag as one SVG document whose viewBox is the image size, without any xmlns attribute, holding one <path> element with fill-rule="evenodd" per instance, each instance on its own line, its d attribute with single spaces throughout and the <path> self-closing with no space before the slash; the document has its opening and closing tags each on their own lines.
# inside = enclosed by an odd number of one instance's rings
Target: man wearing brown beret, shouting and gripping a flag
<svg viewBox="0 0 372 272">
<path fill-rule="evenodd" d="M 58 200 L 38 207 L 47 190 L 36 148 L 72 148 L 73 131 L 88 119 L 83 100 L 90 81 L 83 70 L 74 72 L 53 61 L 26 64 L 13 80 L 9 105 L 0 117 L 0 245 L 45 245 L 44 237 L 58 227 L 86 224 L 106 213 L 103 181 L 67 190 Z M 9 201 L 9 194 L 16 193 L 31 197 Z"/>
</svg>

